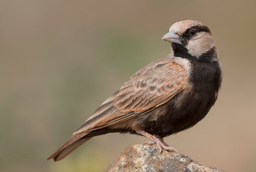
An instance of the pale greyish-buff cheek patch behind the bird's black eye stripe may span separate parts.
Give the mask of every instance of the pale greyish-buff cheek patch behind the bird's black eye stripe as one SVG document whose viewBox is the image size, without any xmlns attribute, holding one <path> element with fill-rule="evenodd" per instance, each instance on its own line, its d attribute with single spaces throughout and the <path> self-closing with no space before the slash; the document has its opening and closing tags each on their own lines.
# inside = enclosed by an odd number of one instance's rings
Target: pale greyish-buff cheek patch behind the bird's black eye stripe
<svg viewBox="0 0 256 172">
<path fill-rule="evenodd" d="M 187 51 L 191 56 L 199 58 L 203 53 L 215 47 L 215 42 L 211 34 L 200 32 L 187 43 Z"/>
</svg>

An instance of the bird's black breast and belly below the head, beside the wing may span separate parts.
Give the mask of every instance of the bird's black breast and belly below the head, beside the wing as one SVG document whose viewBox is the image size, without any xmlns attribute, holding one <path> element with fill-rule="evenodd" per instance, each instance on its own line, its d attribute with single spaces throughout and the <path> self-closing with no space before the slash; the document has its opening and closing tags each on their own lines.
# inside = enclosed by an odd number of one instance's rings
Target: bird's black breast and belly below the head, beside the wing
<svg viewBox="0 0 256 172">
<path fill-rule="evenodd" d="M 217 99 L 222 80 L 218 61 L 194 60 L 191 62 L 191 90 L 184 90 L 163 105 L 166 110 L 155 123 L 148 124 L 145 130 L 161 137 L 180 132 L 194 126 L 203 119 Z"/>
</svg>

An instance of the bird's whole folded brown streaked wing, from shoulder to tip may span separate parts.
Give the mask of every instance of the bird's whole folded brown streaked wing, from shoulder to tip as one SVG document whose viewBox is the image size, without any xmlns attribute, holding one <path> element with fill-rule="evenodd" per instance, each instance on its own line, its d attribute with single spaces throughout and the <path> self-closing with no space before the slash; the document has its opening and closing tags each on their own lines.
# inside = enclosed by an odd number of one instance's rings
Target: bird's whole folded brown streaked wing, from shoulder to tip
<svg viewBox="0 0 256 172">
<path fill-rule="evenodd" d="M 187 71 L 170 57 L 137 71 L 73 134 L 91 132 L 144 114 L 166 103 L 187 84 Z"/>
</svg>

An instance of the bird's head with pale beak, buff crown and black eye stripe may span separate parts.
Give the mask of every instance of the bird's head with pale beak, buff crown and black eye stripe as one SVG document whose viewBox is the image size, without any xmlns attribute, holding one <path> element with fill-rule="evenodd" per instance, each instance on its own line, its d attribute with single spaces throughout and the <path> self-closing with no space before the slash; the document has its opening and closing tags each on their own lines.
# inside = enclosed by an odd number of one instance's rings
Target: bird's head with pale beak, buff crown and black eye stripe
<svg viewBox="0 0 256 172">
<path fill-rule="evenodd" d="M 207 53 L 216 53 L 216 45 L 210 29 L 198 21 L 176 22 L 162 39 L 171 42 L 173 55 L 181 58 L 206 60 Z M 216 61 L 218 57 L 211 56 L 212 60 Z"/>
</svg>

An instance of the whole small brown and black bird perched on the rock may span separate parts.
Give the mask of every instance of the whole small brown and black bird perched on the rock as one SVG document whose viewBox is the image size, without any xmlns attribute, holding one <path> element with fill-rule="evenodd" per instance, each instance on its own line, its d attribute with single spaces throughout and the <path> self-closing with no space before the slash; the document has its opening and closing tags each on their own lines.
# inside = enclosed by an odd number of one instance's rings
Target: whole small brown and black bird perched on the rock
<svg viewBox="0 0 256 172">
<path fill-rule="evenodd" d="M 132 75 L 49 159 L 62 160 L 80 145 L 112 132 L 146 136 L 159 151 L 176 151 L 163 138 L 202 120 L 216 102 L 222 64 L 207 25 L 174 23 L 162 38 L 171 53 Z"/>
</svg>

